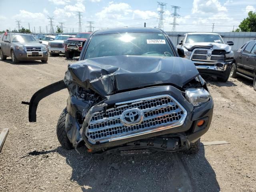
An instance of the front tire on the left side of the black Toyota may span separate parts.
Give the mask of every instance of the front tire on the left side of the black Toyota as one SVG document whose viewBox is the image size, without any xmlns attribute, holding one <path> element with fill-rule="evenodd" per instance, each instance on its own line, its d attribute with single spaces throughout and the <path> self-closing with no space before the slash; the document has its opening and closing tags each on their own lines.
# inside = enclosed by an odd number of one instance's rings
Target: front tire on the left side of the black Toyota
<svg viewBox="0 0 256 192">
<path fill-rule="evenodd" d="M 64 147 L 67 150 L 70 150 L 73 148 L 70 140 L 68 139 L 67 132 L 65 129 L 65 122 L 66 122 L 66 114 L 68 113 L 67 108 L 64 108 L 62 113 L 60 114 L 60 118 L 57 123 L 57 138 L 61 144 L 62 147 Z"/>
</svg>

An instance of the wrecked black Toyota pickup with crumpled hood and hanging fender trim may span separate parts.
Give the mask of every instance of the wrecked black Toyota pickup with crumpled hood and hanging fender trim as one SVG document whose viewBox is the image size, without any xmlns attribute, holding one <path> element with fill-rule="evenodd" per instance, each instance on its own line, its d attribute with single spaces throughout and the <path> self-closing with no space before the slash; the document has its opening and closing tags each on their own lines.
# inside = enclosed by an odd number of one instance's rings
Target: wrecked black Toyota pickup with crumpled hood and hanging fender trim
<svg viewBox="0 0 256 192">
<path fill-rule="evenodd" d="M 36 121 L 42 98 L 67 88 L 67 107 L 57 124 L 64 148 L 196 153 L 212 120 L 213 101 L 194 63 L 181 57 L 182 49 L 177 52 L 160 29 L 96 31 L 64 80 L 32 96 L 29 121 Z"/>
</svg>

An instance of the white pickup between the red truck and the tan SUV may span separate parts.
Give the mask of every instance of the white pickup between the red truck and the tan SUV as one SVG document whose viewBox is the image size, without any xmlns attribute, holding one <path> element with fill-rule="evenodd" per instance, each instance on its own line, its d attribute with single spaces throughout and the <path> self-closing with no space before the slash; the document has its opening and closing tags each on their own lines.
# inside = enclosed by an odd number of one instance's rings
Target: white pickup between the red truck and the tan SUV
<svg viewBox="0 0 256 192">
<path fill-rule="evenodd" d="M 64 41 L 74 35 L 58 35 L 53 41 L 48 42 L 48 51 L 51 56 L 65 54 Z"/>
</svg>

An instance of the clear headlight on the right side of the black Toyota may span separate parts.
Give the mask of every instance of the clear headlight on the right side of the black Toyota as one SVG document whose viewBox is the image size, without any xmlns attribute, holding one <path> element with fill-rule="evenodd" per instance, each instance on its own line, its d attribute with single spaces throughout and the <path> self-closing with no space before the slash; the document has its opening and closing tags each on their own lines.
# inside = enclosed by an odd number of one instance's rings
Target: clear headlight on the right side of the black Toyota
<svg viewBox="0 0 256 192">
<path fill-rule="evenodd" d="M 188 88 L 186 91 L 186 99 L 194 106 L 206 103 L 210 99 L 210 93 L 204 88 Z"/>
</svg>

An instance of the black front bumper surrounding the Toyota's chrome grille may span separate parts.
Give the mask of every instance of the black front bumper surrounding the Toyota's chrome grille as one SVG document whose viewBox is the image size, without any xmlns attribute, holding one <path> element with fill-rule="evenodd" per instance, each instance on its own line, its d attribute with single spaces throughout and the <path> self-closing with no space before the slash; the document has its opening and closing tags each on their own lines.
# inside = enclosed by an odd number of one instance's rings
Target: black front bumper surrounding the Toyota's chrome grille
<svg viewBox="0 0 256 192">
<path fill-rule="evenodd" d="M 118 139 L 111 139 L 103 143 L 101 142 L 92 143 L 90 139 L 88 139 L 88 137 L 86 136 L 86 126 L 88 123 L 88 117 L 91 116 L 93 112 L 104 110 L 104 108 L 107 105 L 112 106 L 113 104 L 126 102 L 128 100 L 136 100 L 140 98 L 154 97 L 154 96 L 165 95 L 165 94 L 175 98 L 178 101 L 178 103 L 181 104 L 181 106 L 186 110 L 187 112 L 186 118 L 184 119 L 184 122 L 182 125 L 158 130 L 156 132 L 154 131 L 141 132 L 141 134 L 120 137 Z M 67 118 L 69 118 L 68 122 L 72 122 L 70 123 L 70 126 L 78 126 L 78 124 L 74 119 L 77 114 L 77 111 L 80 110 L 79 108 L 82 108 L 82 107 L 81 105 L 78 106 L 78 104 L 75 104 L 74 98 L 71 97 L 68 99 Z M 152 87 L 152 88 L 144 88 L 140 90 L 123 92 L 123 93 L 118 93 L 118 94 L 108 96 L 108 99 L 103 104 L 94 106 L 92 110 L 90 110 L 87 113 L 86 118 L 84 120 L 84 124 L 79 132 L 87 148 L 89 148 L 93 152 L 105 151 L 109 149 L 113 150 L 115 148 L 121 149 L 128 146 L 136 149 L 158 148 L 161 150 L 178 151 L 178 150 L 188 149 L 190 142 L 195 142 L 196 140 L 198 140 L 198 138 L 200 138 L 209 129 L 210 122 L 212 120 L 212 112 L 213 112 L 212 98 L 207 103 L 201 106 L 194 107 L 184 98 L 184 96 L 182 95 L 182 92 L 177 88 L 174 88 L 173 86 L 158 86 L 158 87 Z M 197 127 L 196 122 L 202 118 L 204 118 L 205 124 L 203 126 Z M 67 127 L 66 127 L 66 131 L 68 135 L 71 130 L 79 130 L 79 128 L 78 127 L 73 129 L 68 128 L 67 130 Z M 74 131 L 72 131 L 72 135 L 73 134 L 74 134 Z M 75 135 L 77 135 L 77 133 L 74 134 L 73 136 Z M 72 138 L 74 138 L 73 136 Z M 70 140 L 74 144 L 74 142 L 76 141 L 73 140 L 72 138 L 70 138 Z M 166 138 L 167 140 L 169 139 L 169 141 L 171 142 L 166 142 L 166 146 L 160 144 L 163 140 L 166 141 Z M 146 143 L 148 142 L 150 143 L 150 141 L 151 141 L 151 144 L 146 145 Z"/>
</svg>

